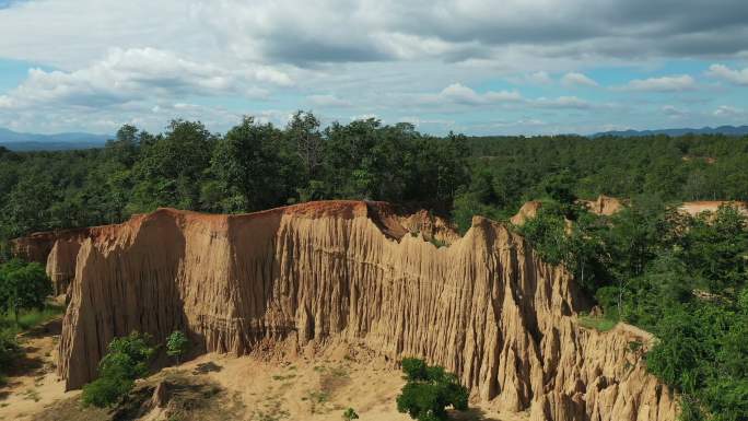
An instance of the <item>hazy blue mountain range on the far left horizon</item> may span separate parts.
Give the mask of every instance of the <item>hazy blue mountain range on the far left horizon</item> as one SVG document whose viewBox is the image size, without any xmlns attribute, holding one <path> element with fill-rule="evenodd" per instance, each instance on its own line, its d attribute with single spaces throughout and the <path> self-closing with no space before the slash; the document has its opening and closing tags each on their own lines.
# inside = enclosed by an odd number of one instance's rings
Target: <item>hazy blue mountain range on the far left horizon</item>
<svg viewBox="0 0 748 421">
<path fill-rule="evenodd" d="M 0 128 L 0 147 L 11 151 L 65 151 L 103 147 L 109 135 L 58 133 L 35 135 Z"/>
</svg>

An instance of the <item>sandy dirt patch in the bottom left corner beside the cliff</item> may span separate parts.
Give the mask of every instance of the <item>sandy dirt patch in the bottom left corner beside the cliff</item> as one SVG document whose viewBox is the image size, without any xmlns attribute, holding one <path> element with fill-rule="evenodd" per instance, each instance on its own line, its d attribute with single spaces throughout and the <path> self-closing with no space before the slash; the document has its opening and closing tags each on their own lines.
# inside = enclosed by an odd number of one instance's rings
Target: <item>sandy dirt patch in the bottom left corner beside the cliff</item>
<svg viewBox="0 0 748 421">
<path fill-rule="evenodd" d="M 75 393 L 65 393 L 65 385 L 55 374 L 55 348 L 61 319 L 36 327 L 19 339 L 25 355 L 0 387 L 0 420 L 24 421 L 50 404 Z"/>
</svg>

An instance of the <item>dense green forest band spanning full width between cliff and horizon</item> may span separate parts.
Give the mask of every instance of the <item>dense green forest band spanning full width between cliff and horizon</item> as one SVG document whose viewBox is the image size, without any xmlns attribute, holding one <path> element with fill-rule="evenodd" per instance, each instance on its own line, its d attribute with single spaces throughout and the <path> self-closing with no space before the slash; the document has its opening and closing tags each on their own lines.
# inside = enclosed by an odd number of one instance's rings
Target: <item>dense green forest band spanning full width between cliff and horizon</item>
<svg viewBox="0 0 748 421">
<path fill-rule="evenodd" d="M 299 201 L 370 199 L 496 219 L 565 178 L 574 196 L 664 202 L 748 200 L 748 137 L 436 138 L 410 124 L 334 122 L 299 112 L 284 128 L 247 117 L 225 135 L 172 121 L 124 126 L 104 149 L 0 148 L 0 238 L 121 222 L 157 207 L 247 212 Z"/>
</svg>

